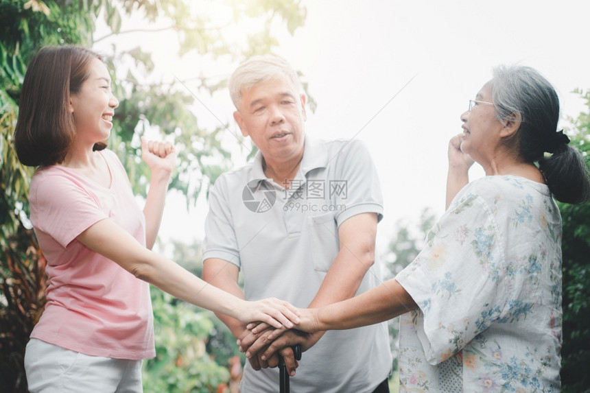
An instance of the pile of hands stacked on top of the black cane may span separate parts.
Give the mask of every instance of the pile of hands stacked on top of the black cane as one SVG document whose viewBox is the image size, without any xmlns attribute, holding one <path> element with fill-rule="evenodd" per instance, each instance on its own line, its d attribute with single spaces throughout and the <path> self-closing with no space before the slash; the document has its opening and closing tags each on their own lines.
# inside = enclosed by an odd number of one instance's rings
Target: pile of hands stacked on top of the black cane
<svg viewBox="0 0 590 393">
<path fill-rule="evenodd" d="M 293 377 L 299 364 L 295 359 L 292 346 L 300 344 L 301 350 L 305 351 L 322 337 L 323 332 L 318 329 L 318 309 L 298 309 L 288 302 L 274 298 L 259 300 L 259 302 L 267 302 L 266 305 L 283 304 L 285 308 L 278 309 L 282 313 L 279 313 L 278 318 L 270 314 L 275 318 L 274 320 L 267 318 L 246 325 L 244 333 L 237 340 L 239 350 L 246 353 L 246 358 L 254 370 L 279 366 L 279 355 L 281 355 L 287 372 Z M 259 304 L 259 302 L 253 303 Z"/>
</svg>

